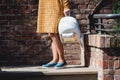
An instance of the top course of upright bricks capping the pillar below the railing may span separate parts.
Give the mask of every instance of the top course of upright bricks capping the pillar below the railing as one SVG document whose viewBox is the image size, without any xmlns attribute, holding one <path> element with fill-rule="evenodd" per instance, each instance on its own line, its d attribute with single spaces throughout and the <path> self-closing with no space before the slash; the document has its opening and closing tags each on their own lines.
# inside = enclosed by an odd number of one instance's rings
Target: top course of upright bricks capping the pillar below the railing
<svg viewBox="0 0 120 80">
<path fill-rule="evenodd" d="M 115 48 L 120 47 L 120 39 L 111 35 L 88 35 L 88 45 L 98 48 Z"/>
</svg>

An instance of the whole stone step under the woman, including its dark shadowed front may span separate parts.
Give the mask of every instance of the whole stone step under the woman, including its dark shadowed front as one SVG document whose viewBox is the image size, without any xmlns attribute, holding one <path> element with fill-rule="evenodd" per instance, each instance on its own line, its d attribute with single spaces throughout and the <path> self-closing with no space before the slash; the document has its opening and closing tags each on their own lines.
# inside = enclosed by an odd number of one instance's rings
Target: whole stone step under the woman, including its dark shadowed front
<svg viewBox="0 0 120 80">
<path fill-rule="evenodd" d="M 69 65 L 64 69 L 32 67 L 3 67 L 0 80 L 97 80 L 94 68 Z"/>
</svg>

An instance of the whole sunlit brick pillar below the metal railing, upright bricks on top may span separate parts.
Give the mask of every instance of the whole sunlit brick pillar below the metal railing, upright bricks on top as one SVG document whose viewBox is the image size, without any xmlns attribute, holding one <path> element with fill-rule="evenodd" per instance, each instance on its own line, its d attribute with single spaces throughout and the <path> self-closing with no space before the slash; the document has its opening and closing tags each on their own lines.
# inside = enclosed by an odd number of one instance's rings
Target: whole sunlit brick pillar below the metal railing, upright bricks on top
<svg viewBox="0 0 120 80">
<path fill-rule="evenodd" d="M 120 39 L 109 35 L 88 35 L 86 62 L 98 70 L 98 80 L 120 79 Z M 116 47 L 117 46 L 117 47 Z"/>
</svg>

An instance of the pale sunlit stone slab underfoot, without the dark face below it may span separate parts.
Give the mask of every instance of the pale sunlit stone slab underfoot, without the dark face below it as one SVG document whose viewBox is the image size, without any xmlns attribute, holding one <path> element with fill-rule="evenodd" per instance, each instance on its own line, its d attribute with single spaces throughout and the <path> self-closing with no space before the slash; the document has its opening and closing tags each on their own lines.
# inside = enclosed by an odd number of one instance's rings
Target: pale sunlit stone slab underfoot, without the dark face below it
<svg viewBox="0 0 120 80">
<path fill-rule="evenodd" d="M 8 73 L 31 73 L 39 75 L 76 75 L 76 74 L 97 74 L 94 68 L 81 67 L 79 65 L 68 65 L 64 69 L 42 69 L 41 66 L 35 67 L 17 67 L 17 68 L 2 68 L 2 72 Z M 41 73 L 41 74 L 40 74 Z"/>
</svg>

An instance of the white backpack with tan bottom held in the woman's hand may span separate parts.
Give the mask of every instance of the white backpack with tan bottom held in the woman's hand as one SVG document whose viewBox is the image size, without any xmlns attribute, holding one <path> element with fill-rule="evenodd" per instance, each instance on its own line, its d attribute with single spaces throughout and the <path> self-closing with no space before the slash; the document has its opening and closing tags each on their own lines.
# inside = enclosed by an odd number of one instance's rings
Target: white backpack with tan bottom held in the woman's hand
<svg viewBox="0 0 120 80">
<path fill-rule="evenodd" d="M 78 21 L 71 16 L 61 18 L 58 25 L 58 32 L 62 42 L 79 41 L 81 37 Z"/>
</svg>

